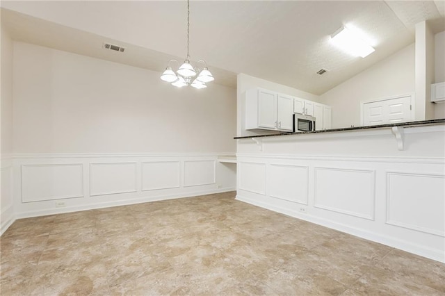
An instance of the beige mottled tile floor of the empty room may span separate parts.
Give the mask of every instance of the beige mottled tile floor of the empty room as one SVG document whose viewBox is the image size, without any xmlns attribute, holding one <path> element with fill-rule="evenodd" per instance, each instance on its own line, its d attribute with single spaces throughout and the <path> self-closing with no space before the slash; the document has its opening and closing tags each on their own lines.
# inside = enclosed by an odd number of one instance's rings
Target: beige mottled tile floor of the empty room
<svg viewBox="0 0 445 296">
<path fill-rule="evenodd" d="M 1 295 L 445 295 L 445 264 L 234 192 L 17 220 Z"/>
</svg>

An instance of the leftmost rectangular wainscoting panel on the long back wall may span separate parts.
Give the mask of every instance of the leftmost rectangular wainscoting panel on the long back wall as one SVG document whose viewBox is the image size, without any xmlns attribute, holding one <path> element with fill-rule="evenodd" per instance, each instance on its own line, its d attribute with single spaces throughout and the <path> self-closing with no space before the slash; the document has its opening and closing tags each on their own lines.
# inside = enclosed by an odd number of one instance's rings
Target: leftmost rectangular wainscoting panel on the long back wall
<svg viewBox="0 0 445 296">
<path fill-rule="evenodd" d="M 22 202 L 83 197 L 81 164 L 22 165 Z"/>
</svg>

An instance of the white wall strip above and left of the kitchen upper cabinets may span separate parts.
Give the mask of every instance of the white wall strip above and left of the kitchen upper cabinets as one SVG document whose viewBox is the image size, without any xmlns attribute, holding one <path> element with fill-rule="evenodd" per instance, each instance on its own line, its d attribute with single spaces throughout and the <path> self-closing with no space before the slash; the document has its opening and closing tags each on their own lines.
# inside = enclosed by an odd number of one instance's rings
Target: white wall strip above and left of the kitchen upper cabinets
<svg viewBox="0 0 445 296">
<path fill-rule="evenodd" d="M 247 74 L 238 74 L 236 78 L 236 98 L 237 98 L 237 122 L 236 135 L 257 135 L 258 132 L 245 130 L 245 91 L 251 88 L 265 88 L 266 90 L 273 90 L 275 92 L 281 92 L 282 94 L 289 94 L 294 97 L 300 97 L 302 99 L 308 99 L 311 101 L 318 101 L 316 94 L 297 90 L 296 88 L 290 88 L 289 86 L 274 83 L 264 79 L 259 79 Z M 261 134 L 268 133 L 268 131 L 261 131 Z"/>
</svg>

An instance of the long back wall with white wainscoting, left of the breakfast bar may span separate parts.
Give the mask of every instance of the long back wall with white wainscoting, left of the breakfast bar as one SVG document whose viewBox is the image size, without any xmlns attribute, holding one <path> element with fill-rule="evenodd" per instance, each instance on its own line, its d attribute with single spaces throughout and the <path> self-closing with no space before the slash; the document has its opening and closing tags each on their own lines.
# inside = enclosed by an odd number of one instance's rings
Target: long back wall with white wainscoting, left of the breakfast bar
<svg viewBox="0 0 445 296">
<path fill-rule="evenodd" d="M 233 88 L 11 44 L 15 218 L 235 189 Z"/>
</svg>

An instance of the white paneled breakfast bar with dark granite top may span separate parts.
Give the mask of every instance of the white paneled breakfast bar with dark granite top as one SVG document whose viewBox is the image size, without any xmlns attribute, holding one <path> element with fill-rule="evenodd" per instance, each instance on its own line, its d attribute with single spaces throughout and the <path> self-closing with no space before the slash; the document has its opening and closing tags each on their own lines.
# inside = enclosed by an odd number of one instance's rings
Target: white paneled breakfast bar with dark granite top
<svg viewBox="0 0 445 296">
<path fill-rule="evenodd" d="M 445 119 L 235 139 L 236 199 L 445 263 Z"/>
</svg>

